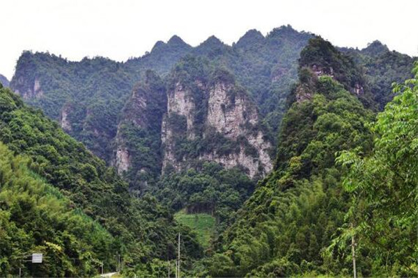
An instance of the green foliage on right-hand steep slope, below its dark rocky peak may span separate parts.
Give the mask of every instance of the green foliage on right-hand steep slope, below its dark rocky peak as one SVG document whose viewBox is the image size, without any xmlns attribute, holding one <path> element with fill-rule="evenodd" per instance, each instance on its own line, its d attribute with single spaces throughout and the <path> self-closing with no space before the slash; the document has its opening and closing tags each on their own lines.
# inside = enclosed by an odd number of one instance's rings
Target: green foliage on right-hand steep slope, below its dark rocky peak
<svg viewBox="0 0 418 278">
<path fill-rule="evenodd" d="M 350 269 L 341 256 L 330 259 L 323 252 L 348 209 L 335 152 L 369 152 L 372 137 L 364 123 L 373 114 L 329 76 L 308 86 L 310 99 L 295 101 L 282 122 L 274 172 L 258 183 L 215 243 L 234 265 L 225 260 L 219 269 L 232 276 L 347 275 Z M 364 275 L 368 266 L 359 265 Z"/>
</svg>

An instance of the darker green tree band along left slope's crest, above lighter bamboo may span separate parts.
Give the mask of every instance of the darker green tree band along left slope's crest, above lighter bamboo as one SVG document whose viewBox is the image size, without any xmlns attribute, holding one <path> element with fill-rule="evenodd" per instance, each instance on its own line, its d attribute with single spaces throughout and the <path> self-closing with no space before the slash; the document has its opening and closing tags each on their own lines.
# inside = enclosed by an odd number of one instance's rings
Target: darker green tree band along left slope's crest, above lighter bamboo
<svg viewBox="0 0 418 278">
<path fill-rule="evenodd" d="M 56 122 L 24 106 L 10 90 L 0 89 L 0 99 L 4 107 L 0 112 L 0 140 L 16 154 L 29 157 L 31 171 L 58 188 L 72 206 L 102 225 L 114 238 L 112 252 L 118 251 L 130 265 L 167 257 L 167 245 L 176 240 L 176 233 L 182 228 L 155 198 L 147 195 L 132 198 L 127 183 L 114 169 L 106 167 L 84 145 L 61 131 Z M 3 182 L 7 183 L 7 179 Z M 185 256 L 201 256 L 196 240 L 187 231 L 182 230 L 182 234 Z M 51 243 L 57 244 L 54 240 Z M 49 272 L 52 268 L 42 271 L 52 276 L 65 275 Z"/>
</svg>

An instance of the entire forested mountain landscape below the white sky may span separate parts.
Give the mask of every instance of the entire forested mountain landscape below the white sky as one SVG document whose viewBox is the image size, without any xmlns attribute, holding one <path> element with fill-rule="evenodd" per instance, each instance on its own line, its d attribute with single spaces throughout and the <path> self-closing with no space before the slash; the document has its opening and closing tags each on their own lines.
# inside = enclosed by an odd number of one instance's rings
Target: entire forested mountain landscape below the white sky
<svg viewBox="0 0 418 278">
<path fill-rule="evenodd" d="M 121 255 L 173 277 L 180 233 L 182 276 L 415 277 L 417 79 L 291 26 L 125 63 L 25 51 L 0 85 L 0 276 Z"/>
</svg>

